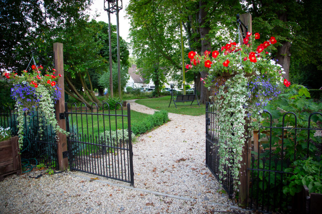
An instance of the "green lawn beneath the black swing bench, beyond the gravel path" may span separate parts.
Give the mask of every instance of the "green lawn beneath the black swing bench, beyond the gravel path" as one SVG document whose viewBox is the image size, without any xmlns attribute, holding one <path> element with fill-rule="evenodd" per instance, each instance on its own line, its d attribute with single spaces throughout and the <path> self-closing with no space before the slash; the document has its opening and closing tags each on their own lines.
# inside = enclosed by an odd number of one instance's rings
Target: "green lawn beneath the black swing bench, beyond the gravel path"
<svg viewBox="0 0 322 214">
<path fill-rule="evenodd" d="M 189 106 L 180 106 L 184 103 L 176 103 L 177 108 L 175 108 L 175 104 L 173 101 L 171 102 L 170 107 L 170 98 L 171 96 L 164 96 L 161 98 L 151 98 L 151 99 L 138 99 L 135 102 L 144 106 L 147 106 L 149 108 L 153 108 L 156 110 L 166 110 L 167 112 L 180 114 L 180 115 L 192 115 L 192 116 L 199 116 L 205 114 L 206 105 L 201 105 L 200 107 L 198 105 L 192 105 L 190 106 L 191 102 L 186 102 L 186 104 L 189 104 Z M 194 101 L 193 104 L 197 104 L 197 101 Z"/>
</svg>

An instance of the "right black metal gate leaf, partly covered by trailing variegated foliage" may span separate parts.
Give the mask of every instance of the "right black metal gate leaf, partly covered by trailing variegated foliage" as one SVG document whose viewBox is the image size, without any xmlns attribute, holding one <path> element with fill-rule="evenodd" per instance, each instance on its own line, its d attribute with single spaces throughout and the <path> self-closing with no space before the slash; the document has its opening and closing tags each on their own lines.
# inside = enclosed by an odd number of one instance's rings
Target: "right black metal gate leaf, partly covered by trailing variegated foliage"
<svg viewBox="0 0 322 214">
<path fill-rule="evenodd" d="M 216 109 L 209 103 L 206 103 L 206 166 L 210 169 L 213 175 L 223 184 L 223 188 L 232 198 L 233 186 L 232 186 L 232 176 L 230 173 L 230 167 L 225 164 L 224 170 L 227 174 L 219 171 L 219 159 L 218 154 L 218 130 L 220 125 L 217 122 L 217 112 Z M 229 160 L 228 160 L 229 161 Z M 222 178 L 219 178 L 219 174 Z"/>
</svg>

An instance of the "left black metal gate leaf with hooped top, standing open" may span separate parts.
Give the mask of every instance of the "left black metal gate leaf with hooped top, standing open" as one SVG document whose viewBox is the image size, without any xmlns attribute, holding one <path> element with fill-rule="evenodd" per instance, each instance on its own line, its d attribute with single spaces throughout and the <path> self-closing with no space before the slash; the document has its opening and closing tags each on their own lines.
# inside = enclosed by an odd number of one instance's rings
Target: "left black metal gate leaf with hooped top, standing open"
<svg viewBox="0 0 322 214">
<path fill-rule="evenodd" d="M 130 104 L 65 103 L 65 114 L 70 169 L 134 185 Z"/>
</svg>

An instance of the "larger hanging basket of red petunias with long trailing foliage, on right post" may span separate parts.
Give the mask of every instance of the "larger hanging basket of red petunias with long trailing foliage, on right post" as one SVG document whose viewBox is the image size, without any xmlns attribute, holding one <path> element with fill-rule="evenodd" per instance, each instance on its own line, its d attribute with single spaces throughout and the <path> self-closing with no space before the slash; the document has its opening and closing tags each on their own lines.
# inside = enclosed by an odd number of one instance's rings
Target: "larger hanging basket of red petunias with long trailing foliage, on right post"
<svg viewBox="0 0 322 214">
<path fill-rule="evenodd" d="M 205 51 L 202 56 L 189 52 L 190 64 L 187 69 L 206 70 L 206 78 L 200 81 L 210 91 L 217 115 L 219 140 L 219 171 L 227 173 L 224 165 L 228 165 L 233 177 L 235 193 L 238 191 L 239 170 L 242 161 L 248 127 L 258 126 L 260 113 L 270 100 L 280 93 L 282 83 L 289 86 L 288 80 L 282 79 L 283 68 L 272 59 L 270 54 L 277 41 L 271 37 L 269 41 L 259 43 L 260 34 L 255 33 L 253 44 L 251 33 L 247 32 L 244 44 L 230 41 L 221 50 Z M 258 44 L 256 44 L 258 43 Z M 248 124 L 247 118 L 255 118 L 256 124 Z M 245 125 L 246 124 L 246 125 Z M 248 126 L 247 126 L 248 125 Z M 219 178 L 222 175 L 219 174 Z"/>
</svg>

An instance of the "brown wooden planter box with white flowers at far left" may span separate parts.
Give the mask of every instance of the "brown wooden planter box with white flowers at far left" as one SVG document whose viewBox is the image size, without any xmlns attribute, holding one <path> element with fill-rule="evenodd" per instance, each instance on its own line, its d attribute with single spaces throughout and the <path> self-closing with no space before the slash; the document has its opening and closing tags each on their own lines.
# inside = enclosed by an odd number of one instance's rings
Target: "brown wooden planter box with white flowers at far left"
<svg viewBox="0 0 322 214">
<path fill-rule="evenodd" d="M 18 136 L 0 142 L 0 181 L 3 181 L 5 175 L 12 173 L 22 173 Z"/>
</svg>

